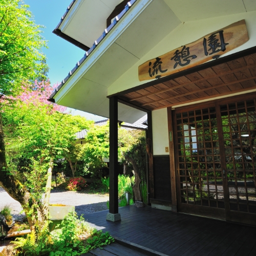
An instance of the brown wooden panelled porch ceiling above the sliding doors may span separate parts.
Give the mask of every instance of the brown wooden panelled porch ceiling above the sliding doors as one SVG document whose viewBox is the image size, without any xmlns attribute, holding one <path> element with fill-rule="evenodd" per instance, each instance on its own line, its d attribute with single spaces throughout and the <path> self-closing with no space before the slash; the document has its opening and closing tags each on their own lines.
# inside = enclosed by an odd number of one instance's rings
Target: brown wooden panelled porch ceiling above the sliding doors
<svg viewBox="0 0 256 256">
<path fill-rule="evenodd" d="M 118 97 L 148 110 L 256 91 L 256 53 Z"/>
</svg>

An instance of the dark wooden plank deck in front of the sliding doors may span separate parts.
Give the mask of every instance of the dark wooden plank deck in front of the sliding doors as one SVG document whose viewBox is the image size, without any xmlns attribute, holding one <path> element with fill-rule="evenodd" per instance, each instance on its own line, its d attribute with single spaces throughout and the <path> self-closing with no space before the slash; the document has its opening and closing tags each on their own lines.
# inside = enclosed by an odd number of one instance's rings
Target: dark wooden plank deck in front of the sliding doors
<svg viewBox="0 0 256 256">
<path fill-rule="evenodd" d="M 84 215 L 103 232 L 167 255 L 256 255 L 256 228 L 147 206 L 119 208 L 121 221 L 106 211 Z"/>
</svg>

